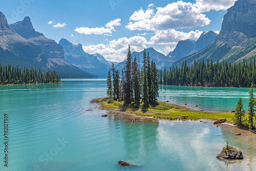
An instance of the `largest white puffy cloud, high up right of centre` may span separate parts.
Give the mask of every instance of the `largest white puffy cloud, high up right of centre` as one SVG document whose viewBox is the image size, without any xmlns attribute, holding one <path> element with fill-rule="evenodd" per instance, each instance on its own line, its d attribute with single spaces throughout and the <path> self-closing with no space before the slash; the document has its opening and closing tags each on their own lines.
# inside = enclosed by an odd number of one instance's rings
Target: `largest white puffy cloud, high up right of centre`
<svg viewBox="0 0 256 171">
<path fill-rule="evenodd" d="M 202 14 L 192 3 L 178 1 L 165 7 L 135 11 L 125 26 L 129 30 L 167 30 L 175 28 L 193 28 L 210 24 L 210 19 Z"/>
</svg>

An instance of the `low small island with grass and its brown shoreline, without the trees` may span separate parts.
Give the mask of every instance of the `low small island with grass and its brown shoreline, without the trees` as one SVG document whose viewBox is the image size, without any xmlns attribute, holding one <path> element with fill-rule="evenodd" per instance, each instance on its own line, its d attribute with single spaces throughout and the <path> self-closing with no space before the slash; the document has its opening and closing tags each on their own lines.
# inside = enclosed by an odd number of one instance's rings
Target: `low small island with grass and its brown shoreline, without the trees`
<svg viewBox="0 0 256 171">
<path fill-rule="evenodd" d="M 234 115 L 231 112 L 217 113 L 190 110 L 184 106 L 170 104 L 162 101 L 158 101 L 157 104 L 152 105 L 149 108 L 145 108 L 143 104 L 140 104 L 139 106 L 137 106 L 135 103 L 125 104 L 123 100 L 113 100 L 110 98 L 98 98 L 94 99 L 92 102 L 99 104 L 99 109 L 126 114 L 127 116 L 130 116 L 129 119 L 131 119 L 131 121 L 133 118 L 138 118 L 136 121 L 144 122 L 152 121 L 152 119 L 218 120 L 222 118 L 227 118 L 227 122 L 232 122 L 232 117 Z"/>
</svg>

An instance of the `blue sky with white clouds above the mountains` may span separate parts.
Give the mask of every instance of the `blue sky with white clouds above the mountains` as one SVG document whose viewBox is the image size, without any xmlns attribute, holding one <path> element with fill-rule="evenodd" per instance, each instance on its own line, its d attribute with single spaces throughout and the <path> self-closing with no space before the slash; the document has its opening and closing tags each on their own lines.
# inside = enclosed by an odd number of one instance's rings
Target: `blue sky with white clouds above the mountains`
<svg viewBox="0 0 256 171">
<path fill-rule="evenodd" d="M 167 55 L 179 40 L 221 30 L 237 0 L 0 0 L 9 24 L 29 16 L 36 31 L 57 43 L 66 38 L 90 54 L 123 61 L 127 47 Z"/>
</svg>

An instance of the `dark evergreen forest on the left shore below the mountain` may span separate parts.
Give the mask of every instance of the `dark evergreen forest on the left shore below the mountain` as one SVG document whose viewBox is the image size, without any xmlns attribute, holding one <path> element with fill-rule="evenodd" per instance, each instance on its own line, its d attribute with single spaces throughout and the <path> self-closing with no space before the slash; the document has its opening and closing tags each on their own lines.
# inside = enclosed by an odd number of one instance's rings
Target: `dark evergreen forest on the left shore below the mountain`
<svg viewBox="0 0 256 171">
<path fill-rule="evenodd" d="M 0 84 L 35 84 L 35 83 L 57 83 L 60 82 L 59 75 L 55 71 L 43 73 L 40 69 L 28 69 L 13 67 L 11 65 L 2 66 L 0 63 Z"/>
</svg>

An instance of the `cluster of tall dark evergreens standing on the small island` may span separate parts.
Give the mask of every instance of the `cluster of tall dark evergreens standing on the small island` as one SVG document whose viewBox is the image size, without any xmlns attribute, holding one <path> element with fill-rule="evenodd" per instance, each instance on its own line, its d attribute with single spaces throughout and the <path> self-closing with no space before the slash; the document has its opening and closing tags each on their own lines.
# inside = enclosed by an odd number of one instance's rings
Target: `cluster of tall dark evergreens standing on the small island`
<svg viewBox="0 0 256 171">
<path fill-rule="evenodd" d="M 139 57 L 138 57 L 139 60 Z M 137 58 L 133 59 L 130 50 L 126 56 L 125 67 L 120 72 L 114 64 L 109 71 L 107 79 L 107 95 L 110 99 L 123 100 L 126 104 L 135 103 L 137 106 L 143 103 L 145 108 L 157 104 L 159 97 L 158 70 L 156 63 L 150 60 L 150 54 L 144 49 L 143 66 L 140 68 Z"/>
</svg>

